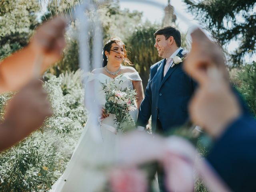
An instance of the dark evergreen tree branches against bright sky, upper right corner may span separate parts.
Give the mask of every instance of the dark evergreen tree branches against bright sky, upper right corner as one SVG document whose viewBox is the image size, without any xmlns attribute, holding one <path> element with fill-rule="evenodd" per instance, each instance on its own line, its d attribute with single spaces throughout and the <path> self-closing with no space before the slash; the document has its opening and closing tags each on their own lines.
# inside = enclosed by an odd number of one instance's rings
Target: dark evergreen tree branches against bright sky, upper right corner
<svg viewBox="0 0 256 192">
<path fill-rule="evenodd" d="M 231 54 L 234 66 L 240 66 L 244 55 L 255 53 L 256 0 L 184 0 L 190 12 L 210 30 L 221 45 L 238 40 L 240 46 Z"/>
</svg>

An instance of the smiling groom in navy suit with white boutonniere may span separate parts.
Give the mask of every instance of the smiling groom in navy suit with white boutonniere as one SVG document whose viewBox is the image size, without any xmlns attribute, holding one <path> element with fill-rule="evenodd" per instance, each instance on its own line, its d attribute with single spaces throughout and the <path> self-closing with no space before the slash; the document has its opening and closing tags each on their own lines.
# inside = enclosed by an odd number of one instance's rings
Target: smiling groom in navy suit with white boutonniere
<svg viewBox="0 0 256 192">
<path fill-rule="evenodd" d="M 163 59 L 150 67 L 145 98 L 140 105 L 137 126 L 146 127 L 152 116 L 152 132 L 166 133 L 188 120 L 188 101 L 196 84 L 183 70 L 185 53 L 180 31 L 167 26 L 154 33 L 158 55 Z"/>
</svg>

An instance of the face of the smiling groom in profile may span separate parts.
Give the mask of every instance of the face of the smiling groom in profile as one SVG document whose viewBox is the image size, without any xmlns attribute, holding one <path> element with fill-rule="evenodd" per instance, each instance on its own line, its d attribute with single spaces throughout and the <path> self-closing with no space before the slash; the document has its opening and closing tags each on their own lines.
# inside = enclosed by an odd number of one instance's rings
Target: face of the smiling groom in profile
<svg viewBox="0 0 256 192">
<path fill-rule="evenodd" d="M 166 39 L 164 35 L 156 36 L 156 43 L 154 47 L 157 48 L 158 56 L 162 58 L 170 57 L 170 40 Z"/>
</svg>

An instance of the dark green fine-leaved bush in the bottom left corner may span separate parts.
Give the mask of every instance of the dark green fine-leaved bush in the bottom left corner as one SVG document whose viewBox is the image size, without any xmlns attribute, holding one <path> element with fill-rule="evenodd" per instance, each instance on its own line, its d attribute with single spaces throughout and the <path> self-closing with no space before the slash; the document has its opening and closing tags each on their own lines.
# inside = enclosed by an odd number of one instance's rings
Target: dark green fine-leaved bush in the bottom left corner
<svg viewBox="0 0 256 192">
<path fill-rule="evenodd" d="M 0 154 L 0 190 L 38 191 L 42 183 L 51 186 L 61 151 L 56 136 L 34 132 L 30 137 Z M 57 174 L 58 175 L 58 174 Z"/>
</svg>

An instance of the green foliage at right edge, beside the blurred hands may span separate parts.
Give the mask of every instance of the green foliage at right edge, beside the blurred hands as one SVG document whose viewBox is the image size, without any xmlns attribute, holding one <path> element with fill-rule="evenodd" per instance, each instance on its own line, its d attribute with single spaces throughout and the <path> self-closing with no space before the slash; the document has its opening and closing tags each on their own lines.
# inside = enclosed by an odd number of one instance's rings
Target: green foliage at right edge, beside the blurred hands
<svg viewBox="0 0 256 192">
<path fill-rule="evenodd" d="M 240 85 L 238 91 L 244 96 L 250 112 L 256 117 L 256 62 L 246 64 L 243 70 L 238 72 Z"/>
</svg>

